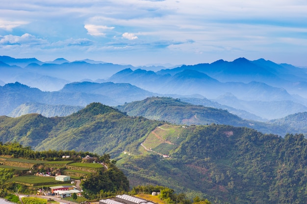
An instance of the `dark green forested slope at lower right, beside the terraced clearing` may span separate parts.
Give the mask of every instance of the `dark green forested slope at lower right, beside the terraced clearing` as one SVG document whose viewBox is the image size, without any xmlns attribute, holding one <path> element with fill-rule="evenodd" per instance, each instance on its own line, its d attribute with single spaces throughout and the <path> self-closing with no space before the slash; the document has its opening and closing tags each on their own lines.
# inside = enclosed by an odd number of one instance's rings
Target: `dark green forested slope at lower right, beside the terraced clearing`
<svg viewBox="0 0 307 204">
<path fill-rule="evenodd" d="M 303 135 L 281 138 L 225 125 L 191 126 L 176 133 L 173 149 L 166 152 L 169 159 L 145 154 L 119 161 L 132 185 L 164 184 L 218 204 L 306 202 L 307 140 Z"/>
</svg>

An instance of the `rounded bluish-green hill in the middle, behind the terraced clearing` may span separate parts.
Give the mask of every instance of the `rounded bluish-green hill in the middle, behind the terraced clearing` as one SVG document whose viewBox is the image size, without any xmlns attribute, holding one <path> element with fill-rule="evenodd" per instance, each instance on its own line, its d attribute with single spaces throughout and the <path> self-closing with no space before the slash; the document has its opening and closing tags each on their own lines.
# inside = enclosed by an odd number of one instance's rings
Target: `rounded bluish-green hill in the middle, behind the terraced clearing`
<svg viewBox="0 0 307 204">
<path fill-rule="evenodd" d="M 237 115 L 226 110 L 192 105 L 170 97 L 149 97 L 117 106 L 120 111 L 132 116 L 164 120 L 173 124 L 206 125 L 211 123 L 248 125 Z"/>
</svg>

